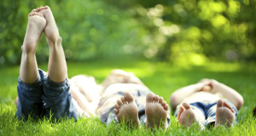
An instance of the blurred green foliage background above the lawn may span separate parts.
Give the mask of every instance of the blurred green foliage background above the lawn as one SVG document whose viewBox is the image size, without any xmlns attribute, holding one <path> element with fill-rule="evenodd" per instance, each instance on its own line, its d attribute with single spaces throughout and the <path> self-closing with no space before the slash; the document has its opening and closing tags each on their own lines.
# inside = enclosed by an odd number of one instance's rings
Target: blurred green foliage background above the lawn
<svg viewBox="0 0 256 136">
<path fill-rule="evenodd" d="M 0 67 L 20 63 L 32 8 L 49 5 L 67 60 L 149 59 L 178 65 L 255 61 L 253 0 L 1 0 Z M 39 63 L 48 60 L 45 37 Z"/>
</svg>

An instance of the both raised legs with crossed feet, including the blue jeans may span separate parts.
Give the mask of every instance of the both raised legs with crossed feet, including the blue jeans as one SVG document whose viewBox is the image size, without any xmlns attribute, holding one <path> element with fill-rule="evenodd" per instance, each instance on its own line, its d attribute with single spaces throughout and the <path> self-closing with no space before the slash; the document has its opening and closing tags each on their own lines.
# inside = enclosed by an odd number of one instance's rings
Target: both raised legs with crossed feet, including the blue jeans
<svg viewBox="0 0 256 136">
<path fill-rule="evenodd" d="M 38 70 L 36 50 L 39 38 L 45 33 L 49 44 L 48 74 Z M 67 64 L 61 37 L 48 6 L 33 9 L 28 15 L 26 36 L 21 47 L 20 77 L 17 87 L 16 116 L 18 119 L 51 116 L 59 119 L 77 118 L 69 93 Z"/>
</svg>

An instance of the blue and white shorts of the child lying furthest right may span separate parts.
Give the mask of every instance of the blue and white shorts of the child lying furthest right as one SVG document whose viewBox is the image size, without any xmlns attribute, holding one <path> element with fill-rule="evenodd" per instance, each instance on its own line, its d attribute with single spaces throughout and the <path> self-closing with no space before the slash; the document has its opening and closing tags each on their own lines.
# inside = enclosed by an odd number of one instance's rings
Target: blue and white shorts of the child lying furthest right
<svg viewBox="0 0 256 136">
<path fill-rule="evenodd" d="M 236 106 L 233 105 L 233 103 L 230 102 L 229 100 L 224 100 L 224 101 L 227 102 L 235 111 L 235 122 L 236 122 L 236 116 L 238 113 Z M 175 111 L 174 116 L 177 116 L 177 111 L 180 105 L 177 106 L 177 110 Z M 214 122 L 216 121 L 217 102 L 200 101 L 200 102 L 189 103 L 189 105 L 191 106 L 192 110 L 195 112 L 195 115 L 201 127 L 210 127 L 214 124 Z M 233 125 L 235 124 L 235 122 L 233 122 Z"/>
</svg>

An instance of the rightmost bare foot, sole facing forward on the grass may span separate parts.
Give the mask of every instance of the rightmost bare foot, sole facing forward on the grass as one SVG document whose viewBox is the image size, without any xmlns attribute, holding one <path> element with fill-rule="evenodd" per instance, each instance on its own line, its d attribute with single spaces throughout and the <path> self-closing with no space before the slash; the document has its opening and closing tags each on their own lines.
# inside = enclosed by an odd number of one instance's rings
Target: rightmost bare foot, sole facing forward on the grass
<svg viewBox="0 0 256 136">
<path fill-rule="evenodd" d="M 217 103 L 216 122 L 214 127 L 218 127 L 218 125 L 230 127 L 233 124 L 234 119 L 235 111 L 228 103 L 224 102 L 222 99 L 219 99 Z"/>
</svg>

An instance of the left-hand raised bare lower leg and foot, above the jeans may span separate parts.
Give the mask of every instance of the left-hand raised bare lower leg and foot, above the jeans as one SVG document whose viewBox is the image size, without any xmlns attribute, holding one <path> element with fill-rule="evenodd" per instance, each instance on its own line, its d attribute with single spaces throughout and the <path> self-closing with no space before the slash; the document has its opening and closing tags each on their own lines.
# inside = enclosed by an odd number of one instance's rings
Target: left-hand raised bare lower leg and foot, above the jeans
<svg viewBox="0 0 256 136">
<path fill-rule="evenodd" d="M 44 14 L 31 12 L 28 15 L 26 36 L 21 47 L 20 79 L 22 82 L 32 83 L 38 79 L 38 64 L 35 54 L 45 26 Z"/>
</svg>

